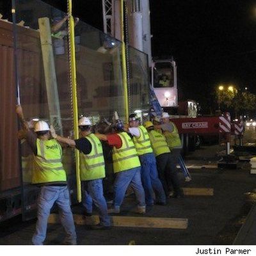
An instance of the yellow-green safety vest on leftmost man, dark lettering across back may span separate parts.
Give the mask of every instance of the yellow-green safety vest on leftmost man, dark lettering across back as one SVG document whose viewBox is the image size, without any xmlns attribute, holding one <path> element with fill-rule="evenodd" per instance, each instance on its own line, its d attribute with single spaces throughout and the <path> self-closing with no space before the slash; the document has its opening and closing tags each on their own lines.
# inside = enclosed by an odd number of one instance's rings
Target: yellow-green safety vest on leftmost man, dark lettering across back
<svg viewBox="0 0 256 256">
<path fill-rule="evenodd" d="M 58 141 L 36 139 L 36 150 L 32 183 L 67 182 L 61 163 L 62 148 Z"/>
</svg>

